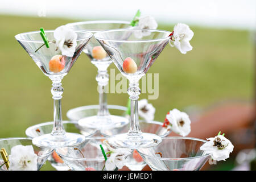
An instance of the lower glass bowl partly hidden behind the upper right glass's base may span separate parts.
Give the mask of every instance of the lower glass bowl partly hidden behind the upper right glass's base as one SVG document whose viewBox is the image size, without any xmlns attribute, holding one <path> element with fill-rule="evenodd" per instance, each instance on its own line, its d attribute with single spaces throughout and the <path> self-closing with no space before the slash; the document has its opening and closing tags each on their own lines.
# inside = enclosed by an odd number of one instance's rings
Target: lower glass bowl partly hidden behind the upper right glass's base
<svg viewBox="0 0 256 182">
<path fill-rule="evenodd" d="M 156 134 L 159 137 L 166 137 L 171 133 L 170 126 L 163 127 L 162 122 L 157 121 L 139 121 L 139 125 L 141 126 L 141 131 L 143 133 L 152 133 Z M 129 131 L 129 127 L 126 125 L 121 128 L 114 128 L 111 130 L 101 130 L 102 135 L 106 137 L 110 137 L 112 135 L 127 133 Z M 147 164 L 144 162 L 142 157 L 138 154 L 137 150 L 133 150 L 131 155 L 127 157 L 127 162 L 125 166 L 127 166 L 131 171 L 141 171 Z"/>
</svg>

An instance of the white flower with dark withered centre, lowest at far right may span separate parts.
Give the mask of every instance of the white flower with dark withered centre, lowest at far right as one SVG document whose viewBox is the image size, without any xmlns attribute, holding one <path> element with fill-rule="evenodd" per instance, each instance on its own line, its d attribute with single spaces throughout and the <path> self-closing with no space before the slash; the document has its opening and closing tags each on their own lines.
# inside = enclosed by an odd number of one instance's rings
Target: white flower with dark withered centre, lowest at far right
<svg viewBox="0 0 256 182">
<path fill-rule="evenodd" d="M 233 151 L 233 144 L 230 140 L 226 139 L 223 135 L 218 135 L 214 138 L 208 138 L 200 150 L 205 154 L 210 154 L 213 160 L 225 160 L 229 158 L 229 154 Z"/>
</svg>

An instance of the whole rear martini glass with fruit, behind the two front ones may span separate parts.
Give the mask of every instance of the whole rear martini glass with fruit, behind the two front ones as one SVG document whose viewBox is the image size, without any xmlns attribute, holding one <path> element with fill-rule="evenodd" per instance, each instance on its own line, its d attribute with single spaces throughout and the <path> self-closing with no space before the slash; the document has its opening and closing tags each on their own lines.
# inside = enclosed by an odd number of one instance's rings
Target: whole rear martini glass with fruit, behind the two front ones
<svg viewBox="0 0 256 182">
<path fill-rule="evenodd" d="M 76 22 L 68 23 L 67 26 L 75 30 L 89 31 L 92 32 L 92 34 L 102 30 L 131 27 L 130 22 L 118 20 Z M 121 117 L 120 115 L 114 115 L 114 113 L 109 110 L 109 106 L 107 104 L 107 94 L 104 92 L 105 87 L 109 82 L 109 74 L 107 69 L 112 63 L 112 60 L 94 37 L 90 39 L 88 45 L 84 48 L 84 52 L 91 60 L 91 63 L 94 64 L 98 69 L 96 80 L 98 82 L 100 109 L 96 114 L 90 115 L 90 117 L 81 118 L 79 125 L 98 130 L 126 125 L 129 122 L 126 118 Z"/>
</svg>

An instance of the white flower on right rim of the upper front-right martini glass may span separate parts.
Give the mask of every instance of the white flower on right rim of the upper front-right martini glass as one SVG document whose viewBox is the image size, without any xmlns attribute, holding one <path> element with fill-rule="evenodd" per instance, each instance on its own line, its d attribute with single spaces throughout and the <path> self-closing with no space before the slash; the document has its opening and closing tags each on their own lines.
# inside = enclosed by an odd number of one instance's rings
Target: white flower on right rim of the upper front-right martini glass
<svg viewBox="0 0 256 182">
<path fill-rule="evenodd" d="M 189 28 L 187 24 L 178 23 L 174 27 L 174 32 L 171 34 L 172 38 L 169 43 L 172 47 L 179 49 L 181 53 L 187 53 L 192 50 L 192 46 L 189 41 L 192 39 L 194 32 Z M 174 45 L 171 44 L 174 43 Z"/>
</svg>

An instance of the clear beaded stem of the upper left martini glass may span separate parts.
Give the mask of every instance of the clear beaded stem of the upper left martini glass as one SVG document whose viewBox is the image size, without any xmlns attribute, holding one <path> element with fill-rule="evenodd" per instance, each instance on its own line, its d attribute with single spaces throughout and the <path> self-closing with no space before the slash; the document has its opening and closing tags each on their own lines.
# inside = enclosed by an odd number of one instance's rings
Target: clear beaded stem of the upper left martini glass
<svg viewBox="0 0 256 182">
<path fill-rule="evenodd" d="M 53 136 L 63 136 L 65 134 L 65 130 L 62 123 L 62 116 L 61 116 L 61 98 L 63 94 L 63 87 L 61 86 L 61 80 L 63 76 L 54 76 L 50 77 L 52 80 L 52 98 L 53 98 L 53 129 L 52 135 Z"/>
</svg>

